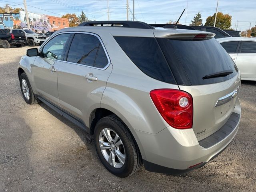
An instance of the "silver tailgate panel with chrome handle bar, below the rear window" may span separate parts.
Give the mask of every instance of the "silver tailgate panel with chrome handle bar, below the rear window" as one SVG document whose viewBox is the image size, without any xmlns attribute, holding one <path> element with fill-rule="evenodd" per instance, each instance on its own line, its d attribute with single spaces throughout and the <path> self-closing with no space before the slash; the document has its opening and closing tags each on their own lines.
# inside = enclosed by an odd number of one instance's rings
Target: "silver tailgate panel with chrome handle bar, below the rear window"
<svg viewBox="0 0 256 192">
<path fill-rule="evenodd" d="M 224 82 L 179 86 L 193 97 L 193 131 L 198 140 L 213 134 L 228 121 L 238 99 L 236 91 L 240 86 L 240 73 Z"/>
</svg>

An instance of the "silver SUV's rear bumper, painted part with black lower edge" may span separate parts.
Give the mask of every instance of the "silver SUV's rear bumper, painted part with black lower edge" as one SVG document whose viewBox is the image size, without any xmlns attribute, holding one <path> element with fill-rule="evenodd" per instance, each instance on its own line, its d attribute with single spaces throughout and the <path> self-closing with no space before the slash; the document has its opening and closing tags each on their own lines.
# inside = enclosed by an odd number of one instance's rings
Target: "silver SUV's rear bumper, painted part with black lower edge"
<svg viewBox="0 0 256 192">
<path fill-rule="evenodd" d="M 198 142 L 192 129 L 177 130 L 169 126 L 158 134 L 136 131 L 145 169 L 152 172 L 180 175 L 204 166 L 218 156 L 238 132 L 241 114 L 239 99 L 236 101 L 234 113 L 238 114 L 238 119 L 232 130 L 226 132 L 221 140 L 216 141 L 210 138 L 208 141 L 212 142 L 208 145 L 206 140 Z"/>
</svg>

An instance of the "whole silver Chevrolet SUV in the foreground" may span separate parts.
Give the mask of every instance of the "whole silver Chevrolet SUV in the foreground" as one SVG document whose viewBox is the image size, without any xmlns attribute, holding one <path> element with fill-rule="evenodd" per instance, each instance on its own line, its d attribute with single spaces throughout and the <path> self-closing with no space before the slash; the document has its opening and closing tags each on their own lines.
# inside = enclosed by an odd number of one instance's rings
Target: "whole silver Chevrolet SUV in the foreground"
<svg viewBox="0 0 256 192">
<path fill-rule="evenodd" d="M 218 156 L 240 122 L 240 73 L 213 37 L 143 22 L 85 22 L 27 50 L 20 88 L 28 104 L 42 101 L 93 134 L 112 174 L 130 176 L 142 163 L 184 174 Z"/>
</svg>

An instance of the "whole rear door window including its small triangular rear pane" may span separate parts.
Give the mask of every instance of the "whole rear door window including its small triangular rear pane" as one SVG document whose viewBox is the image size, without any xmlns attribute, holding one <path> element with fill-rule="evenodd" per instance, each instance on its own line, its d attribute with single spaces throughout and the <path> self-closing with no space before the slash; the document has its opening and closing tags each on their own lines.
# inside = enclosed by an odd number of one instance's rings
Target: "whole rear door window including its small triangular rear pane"
<svg viewBox="0 0 256 192">
<path fill-rule="evenodd" d="M 75 34 L 68 52 L 68 62 L 104 68 L 108 59 L 100 40 L 90 34 Z"/>
</svg>

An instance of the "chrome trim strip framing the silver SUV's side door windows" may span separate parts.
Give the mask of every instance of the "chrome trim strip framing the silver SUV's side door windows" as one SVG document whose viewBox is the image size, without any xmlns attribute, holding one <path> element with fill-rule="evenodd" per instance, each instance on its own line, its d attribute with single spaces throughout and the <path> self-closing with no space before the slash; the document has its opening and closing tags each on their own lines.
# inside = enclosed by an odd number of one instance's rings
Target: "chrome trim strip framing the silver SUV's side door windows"
<svg viewBox="0 0 256 192">
<path fill-rule="evenodd" d="M 70 64 L 76 64 L 76 65 L 85 66 L 85 67 L 90 67 L 90 68 L 99 69 L 99 70 L 105 70 L 105 69 L 108 68 L 108 66 L 111 64 L 110 58 L 109 58 L 109 56 L 108 56 L 108 52 L 107 52 L 107 50 L 106 50 L 106 48 L 105 48 L 105 46 L 104 46 L 104 44 L 103 44 L 103 42 L 102 42 L 100 36 L 98 36 L 98 35 L 95 34 L 95 33 L 81 32 L 81 31 L 60 32 L 60 33 L 55 34 L 55 35 L 52 36 L 51 38 L 48 38 L 48 39 L 45 41 L 45 43 L 42 44 L 42 45 L 47 44 L 47 42 L 50 41 L 50 40 L 51 40 L 52 38 L 54 38 L 55 36 L 60 35 L 60 34 L 65 34 L 65 33 L 82 33 L 82 34 L 89 34 L 89 35 L 96 36 L 96 37 L 98 38 L 98 40 L 100 41 L 100 43 L 101 43 L 101 45 L 102 45 L 102 48 L 104 49 L 104 52 L 105 52 L 105 54 L 106 54 L 106 56 L 107 56 L 107 58 L 108 58 L 108 64 L 107 64 L 104 68 L 98 68 L 98 67 L 83 65 L 83 64 L 79 64 L 79 63 L 73 63 L 73 62 L 64 61 L 64 60 L 56 60 L 56 59 L 52 59 L 52 60 L 62 61 L 62 62 L 70 63 Z M 42 50 L 43 47 L 44 47 L 44 46 L 40 47 L 39 52 L 41 52 L 41 50 Z"/>
</svg>

